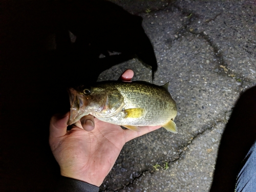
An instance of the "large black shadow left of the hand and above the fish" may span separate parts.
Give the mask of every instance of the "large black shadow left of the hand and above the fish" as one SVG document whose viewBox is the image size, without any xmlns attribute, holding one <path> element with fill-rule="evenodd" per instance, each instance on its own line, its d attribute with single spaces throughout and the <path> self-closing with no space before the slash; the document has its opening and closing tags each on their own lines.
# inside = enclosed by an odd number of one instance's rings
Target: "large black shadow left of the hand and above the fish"
<svg viewBox="0 0 256 192">
<path fill-rule="evenodd" d="M 156 71 L 154 50 L 142 18 L 110 2 L 2 1 L 0 9 L 0 190 L 52 191 L 59 169 L 49 120 L 69 111 L 67 87 L 134 57 Z"/>
</svg>

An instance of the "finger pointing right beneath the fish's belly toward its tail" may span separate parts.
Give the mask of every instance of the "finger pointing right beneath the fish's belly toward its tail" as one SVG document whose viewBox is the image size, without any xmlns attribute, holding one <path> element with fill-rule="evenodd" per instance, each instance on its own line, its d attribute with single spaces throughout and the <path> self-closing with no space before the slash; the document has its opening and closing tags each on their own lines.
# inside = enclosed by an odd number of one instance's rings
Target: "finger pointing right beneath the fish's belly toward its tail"
<svg viewBox="0 0 256 192">
<path fill-rule="evenodd" d="M 161 126 L 141 126 L 140 130 L 138 132 L 133 130 L 123 130 L 125 131 L 125 142 L 128 142 L 132 139 L 135 139 L 136 137 L 140 137 L 142 135 L 145 135 L 147 133 L 153 132 L 155 130 L 158 130 Z"/>
</svg>

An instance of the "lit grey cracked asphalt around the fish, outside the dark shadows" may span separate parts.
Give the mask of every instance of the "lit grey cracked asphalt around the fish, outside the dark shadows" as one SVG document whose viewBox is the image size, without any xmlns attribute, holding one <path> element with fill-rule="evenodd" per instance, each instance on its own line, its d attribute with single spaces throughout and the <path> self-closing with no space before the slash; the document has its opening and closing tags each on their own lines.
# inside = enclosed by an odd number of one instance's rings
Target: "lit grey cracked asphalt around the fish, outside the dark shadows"
<svg viewBox="0 0 256 192">
<path fill-rule="evenodd" d="M 126 143 L 101 191 L 208 191 L 232 108 L 256 82 L 256 3 L 112 2 L 143 17 L 158 62 L 154 83 L 170 82 L 178 134 L 160 129 Z M 129 68 L 134 80 L 151 81 L 137 59 L 98 80 Z"/>
</svg>

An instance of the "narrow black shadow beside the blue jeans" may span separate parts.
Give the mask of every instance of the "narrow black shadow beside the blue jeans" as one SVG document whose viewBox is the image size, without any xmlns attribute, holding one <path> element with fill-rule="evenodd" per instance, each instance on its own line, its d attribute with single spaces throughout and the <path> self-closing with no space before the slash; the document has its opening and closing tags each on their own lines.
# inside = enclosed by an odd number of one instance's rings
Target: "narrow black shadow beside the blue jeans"
<svg viewBox="0 0 256 192">
<path fill-rule="evenodd" d="M 256 87 L 236 103 L 222 135 L 210 192 L 233 192 L 242 160 L 256 139 Z"/>
</svg>

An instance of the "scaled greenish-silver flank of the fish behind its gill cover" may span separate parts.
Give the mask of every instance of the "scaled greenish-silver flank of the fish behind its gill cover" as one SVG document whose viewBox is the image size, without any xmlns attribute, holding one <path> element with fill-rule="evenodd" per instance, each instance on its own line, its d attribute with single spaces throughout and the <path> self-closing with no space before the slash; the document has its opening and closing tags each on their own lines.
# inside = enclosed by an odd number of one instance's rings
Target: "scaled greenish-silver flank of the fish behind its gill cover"
<svg viewBox="0 0 256 192">
<path fill-rule="evenodd" d="M 121 125 L 147 126 L 161 125 L 172 118 L 172 97 L 160 86 L 134 81 L 130 84 L 116 83 L 113 86 L 124 97 L 124 109 L 142 108 L 145 113 L 139 118 L 110 118 L 109 122 Z M 120 117 L 120 118 L 118 118 Z M 106 120 L 106 119 L 101 119 Z"/>
</svg>

